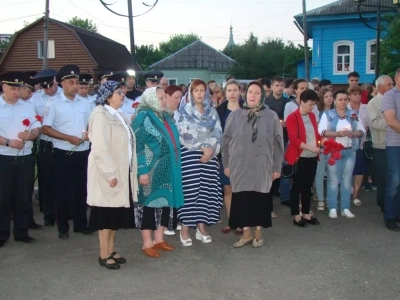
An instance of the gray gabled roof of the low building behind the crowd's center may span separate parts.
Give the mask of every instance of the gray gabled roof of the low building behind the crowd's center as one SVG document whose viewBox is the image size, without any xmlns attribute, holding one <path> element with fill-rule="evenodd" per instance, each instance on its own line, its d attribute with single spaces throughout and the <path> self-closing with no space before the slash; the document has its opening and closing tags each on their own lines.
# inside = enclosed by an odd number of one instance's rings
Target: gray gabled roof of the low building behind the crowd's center
<svg viewBox="0 0 400 300">
<path fill-rule="evenodd" d="M 235 63 L 229 56 L 198 40 L 149 67 L 158 70 L 208 69 L 211 71 L 227 71 Z"/>
</svg>

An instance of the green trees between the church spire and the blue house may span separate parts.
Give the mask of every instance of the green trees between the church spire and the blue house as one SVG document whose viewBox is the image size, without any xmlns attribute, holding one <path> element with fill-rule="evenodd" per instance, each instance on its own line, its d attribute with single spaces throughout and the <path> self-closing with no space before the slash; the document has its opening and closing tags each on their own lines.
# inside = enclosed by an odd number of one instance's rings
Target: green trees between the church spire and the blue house
<svg viewBox="0 0 400 300">
<path fill-rule="evenodd" d="M 248 39 L 240 45 L 225 48 L 223 52 L 238 64 L 230 70 L 232 76 L 242 79 L 271 78 L 275 75 L 296 77 L 296 62 L 304 58 L 304 47 L 281 39 L 258 41 L 250 33 Z"/>
</svg>

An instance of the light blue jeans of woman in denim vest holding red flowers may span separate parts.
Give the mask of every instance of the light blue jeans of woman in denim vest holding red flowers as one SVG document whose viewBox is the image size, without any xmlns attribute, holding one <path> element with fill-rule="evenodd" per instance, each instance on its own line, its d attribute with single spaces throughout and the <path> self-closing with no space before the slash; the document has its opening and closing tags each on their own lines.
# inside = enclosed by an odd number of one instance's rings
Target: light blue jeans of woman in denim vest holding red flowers
<svg viewBox="0 0 400 300">
<path fill-rule="evenodd" d="M 338 209 L 338 191 L 340 184 L 340 209 L 350 208 L 350 195 L 353 179 L 353 169 L 356 162 L 356 152 L 353 149 L 341 151 L 342 158 L 336 160 L 333 166 L 328 165 L 328 208 Z"/>
</svg>

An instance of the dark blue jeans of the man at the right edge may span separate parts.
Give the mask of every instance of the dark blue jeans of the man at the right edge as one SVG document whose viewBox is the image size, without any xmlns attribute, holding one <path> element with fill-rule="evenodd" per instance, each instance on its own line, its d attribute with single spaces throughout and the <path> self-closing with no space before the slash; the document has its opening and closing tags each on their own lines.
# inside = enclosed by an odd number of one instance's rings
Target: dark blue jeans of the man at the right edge
<svg viewBox="0 0 400 300">
<path fill-rule="evenodd" d="M 385 221 L 400 216 L 400 147 L 386 147 L 387 180 L 385 195 Z"/>
</svg>

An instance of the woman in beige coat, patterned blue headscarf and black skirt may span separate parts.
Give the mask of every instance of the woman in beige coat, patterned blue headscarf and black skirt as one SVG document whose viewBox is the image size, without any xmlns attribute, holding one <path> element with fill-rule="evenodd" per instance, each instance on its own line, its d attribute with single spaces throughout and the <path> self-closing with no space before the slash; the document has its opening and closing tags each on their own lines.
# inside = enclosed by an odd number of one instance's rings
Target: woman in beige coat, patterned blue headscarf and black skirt
<svg viewBox="0 0 400 300">
<path fill-rule="evenodd" d="M 123 100 L 119 83 L 105 82 L 89 120 L 92 143 L 88 163 L 89 228 L 99 231 L 99 263 L 107 269 L 119 269 L 126 262 L 114 251 L 116 230 L 133 228 L 135 224 L 136 140 L 129 121 L 119 109 Z"/>
</svg>

